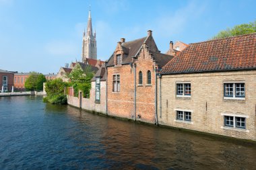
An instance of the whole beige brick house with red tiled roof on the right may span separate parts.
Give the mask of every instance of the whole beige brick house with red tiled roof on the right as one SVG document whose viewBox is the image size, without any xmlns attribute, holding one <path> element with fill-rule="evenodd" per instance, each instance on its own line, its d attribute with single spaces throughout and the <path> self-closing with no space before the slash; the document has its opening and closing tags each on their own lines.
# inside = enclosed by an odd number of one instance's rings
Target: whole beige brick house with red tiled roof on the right
<svg viewBox="0 0 256 170">
<path fill-rule="evenodd" d="M 256 33 L 189 44 L 158 81 L 159 124 L 256 140 Z"/>
</svg>

